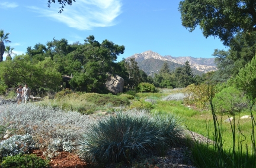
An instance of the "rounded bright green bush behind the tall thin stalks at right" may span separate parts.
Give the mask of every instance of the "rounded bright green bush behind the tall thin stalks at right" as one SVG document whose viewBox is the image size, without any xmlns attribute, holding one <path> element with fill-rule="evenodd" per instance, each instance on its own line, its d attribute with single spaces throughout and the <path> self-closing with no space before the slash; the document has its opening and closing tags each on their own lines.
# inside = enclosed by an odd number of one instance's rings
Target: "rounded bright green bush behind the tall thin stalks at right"
<svg viewBox="0 0 256 168">
<path fill-rule="evenodd" d="M 215 94 L 213 102 L 217 113 L 235 113 L 248 107 L 247 98 L 234 87 L 224 88 L 220 93 Z"/>
</svg>

